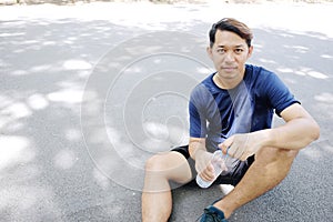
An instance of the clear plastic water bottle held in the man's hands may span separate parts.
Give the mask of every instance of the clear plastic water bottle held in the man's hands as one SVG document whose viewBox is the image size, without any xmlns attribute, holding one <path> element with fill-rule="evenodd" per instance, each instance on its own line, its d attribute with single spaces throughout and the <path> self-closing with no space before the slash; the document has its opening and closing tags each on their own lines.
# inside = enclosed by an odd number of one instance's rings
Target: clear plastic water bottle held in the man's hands
<svg viewBox="0 0 333 222">
<path fill-rule="evenodd" d="M 212 181 L 205 181 L 198 173 L 195 180 L 200 188 L 209 188 L 216 180 L 216 178 L 223 172 L 223 170 L 226 170 L 226 167 L 225 167 L 226 158 L 228 158 L 228 154 L 223 158 L 222 150 L 216 150 L 213 153 L 213 157 L 211 159 L 211 164 L 214 168 L 214 176 L 215 178 Z"/>
</svg>

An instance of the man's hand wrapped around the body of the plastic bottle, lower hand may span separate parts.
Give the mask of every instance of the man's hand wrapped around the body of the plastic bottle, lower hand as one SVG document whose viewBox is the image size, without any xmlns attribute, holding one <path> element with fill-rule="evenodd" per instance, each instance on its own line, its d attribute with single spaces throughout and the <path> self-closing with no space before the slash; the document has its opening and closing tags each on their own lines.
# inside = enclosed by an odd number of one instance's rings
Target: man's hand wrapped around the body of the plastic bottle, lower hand
<svg viewBox="0 0 333 222">
<path fill-rule="evenodd" d="M 213 153 L 204 150 L 198 150 L 195 153 L 195 170 L 205 181 L 214 180 L 214 168 L 211 164 Z"/>
</svg>

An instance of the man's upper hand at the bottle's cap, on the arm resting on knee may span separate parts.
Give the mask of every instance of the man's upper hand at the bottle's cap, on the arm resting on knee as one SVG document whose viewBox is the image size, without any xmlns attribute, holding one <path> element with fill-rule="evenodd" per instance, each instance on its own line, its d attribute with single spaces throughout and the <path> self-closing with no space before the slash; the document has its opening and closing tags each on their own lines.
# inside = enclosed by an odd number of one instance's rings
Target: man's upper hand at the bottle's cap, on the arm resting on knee
<svg viewBox="0 0 333 222">
<path fill-rule="evenodd" d="M 241 161 L 255 154 L 262 148 L 262 140 L 260 133 L 241 133 L 228 138 L 219 148 L 224 154 Z"/>
</svg>

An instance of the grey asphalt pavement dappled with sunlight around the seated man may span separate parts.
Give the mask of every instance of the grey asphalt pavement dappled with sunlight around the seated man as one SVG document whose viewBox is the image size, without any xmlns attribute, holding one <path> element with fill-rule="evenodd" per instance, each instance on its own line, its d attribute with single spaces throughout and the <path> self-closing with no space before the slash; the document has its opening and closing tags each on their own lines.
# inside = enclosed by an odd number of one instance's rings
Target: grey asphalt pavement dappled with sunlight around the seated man
<svg viewBox="0 0 333 222">
<path fill-rule="evenodd" d="M 286 179 L 230 221 L 333 221 L 332 9 L 0 7 L 0 221 L 141 221 L 144 162 L 186 143 L 189 93 L 213 71 L 206 33 L 223 17 L 253 28 L 249 62 L 275 71 L 321 125 Z M 195 221 L 228 189 L 175 188 L 170 221 Z"/>
</svg>

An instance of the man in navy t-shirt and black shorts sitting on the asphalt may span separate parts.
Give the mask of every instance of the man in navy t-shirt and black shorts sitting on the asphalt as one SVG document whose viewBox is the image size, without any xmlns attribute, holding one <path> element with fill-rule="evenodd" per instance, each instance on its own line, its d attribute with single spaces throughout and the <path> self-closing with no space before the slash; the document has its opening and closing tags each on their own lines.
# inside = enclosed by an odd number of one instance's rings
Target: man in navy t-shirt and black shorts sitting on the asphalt
<svg viewBox="0 0 333 222">
<path fill-rule="evenodd" d="M 240 206 L 278 185 L 300 149 L 320 134 L 317 123 L 271 71 L 245 64 L 252 32 L 235 19 L 222 19 L 210 30 L 208 54 L 216 72 L 192 93 L 189 145 L 153 155 L 145 165 L 143 222 L 168 221 L 172 211 L 170 181 L 186 183 L 196 173 L 214 180 L 212 152 L 231 157 L 215 183 L 234 189 L 204 209 L 201 221 L 226 221 Z M 285 123 L 271 129 L 273 111 Z"/>
</svg>

